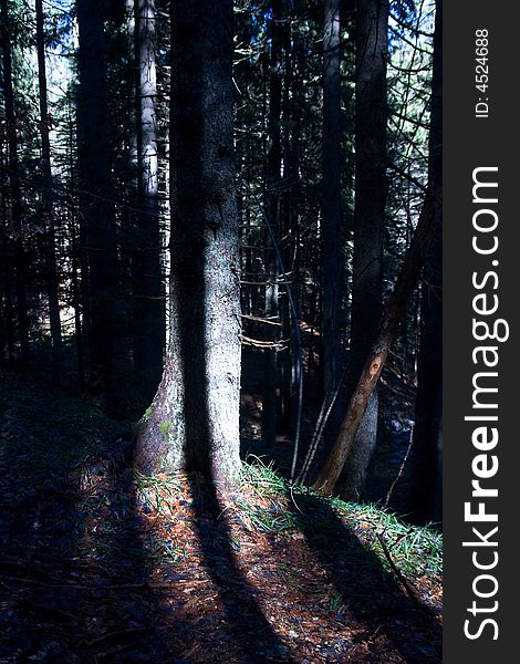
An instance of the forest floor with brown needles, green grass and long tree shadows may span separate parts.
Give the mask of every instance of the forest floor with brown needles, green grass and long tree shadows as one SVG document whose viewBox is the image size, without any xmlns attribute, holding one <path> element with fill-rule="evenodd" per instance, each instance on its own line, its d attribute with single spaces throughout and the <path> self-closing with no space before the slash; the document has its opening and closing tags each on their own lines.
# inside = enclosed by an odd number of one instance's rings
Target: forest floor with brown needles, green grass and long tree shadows
<svg viewBox="0 0 520 664">
<path fill-rule="evenodd" d="M 0 375 L 0 662 L 441 662 L 440 536 L 291 491 L 139 476 L 92 402 Z"/>
</svg>

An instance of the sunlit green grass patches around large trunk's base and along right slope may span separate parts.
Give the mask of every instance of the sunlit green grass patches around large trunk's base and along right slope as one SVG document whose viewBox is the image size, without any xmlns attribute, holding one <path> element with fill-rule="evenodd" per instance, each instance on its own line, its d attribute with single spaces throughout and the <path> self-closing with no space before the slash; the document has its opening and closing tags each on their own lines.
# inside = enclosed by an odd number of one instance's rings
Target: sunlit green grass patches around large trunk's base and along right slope
<svg viewBox="0 0 520 664">
<path fill-rule="evenodd" d="M 137 474 L 139 499 L 158 513 L 174 517 L 178 501 L 184 500 L 184 478 L 183 474 L 158 477 Z M 336 497 L 327 499 L 305 487 L 291 487 L 272 466 L 264 465 L 258 457 L 248 457 L 243 463 L 241 481 L 233 492 L 223 497 L 222 506 L 228 518 L 232 511 L 249 530 L 291 537 L 300 531 L 304 519 L 319 538 L 323 515 L 318 507 L 302 506 L 305 496 L 311 496 L 316 506 L 329 505 L 345 528 L 355 533 L 362 546 L 373 551 L 386 569 L 389 569 L 389 554 L 402 573 L 440 582 L 443 537 L 436 529 L 404 523 L 374 504 L 345 502 Z M 199 498 L 196 494 L 195 499 L 204 500 L 204 485 L 199 487 Z"/>
</svg>

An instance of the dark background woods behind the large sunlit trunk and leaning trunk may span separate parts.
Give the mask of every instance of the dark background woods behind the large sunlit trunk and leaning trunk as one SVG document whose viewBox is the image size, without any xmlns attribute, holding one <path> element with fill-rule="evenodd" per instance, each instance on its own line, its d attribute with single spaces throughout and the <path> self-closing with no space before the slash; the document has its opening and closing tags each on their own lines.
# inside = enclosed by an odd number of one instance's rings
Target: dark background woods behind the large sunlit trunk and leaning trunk
<svg viewBox="0 0 520 664">
<path fill-rule="evenodd" d="M 337 436 L 428 168 L 430 183 L 439 169 L 434 11 L 407 0 L 235 6 L 242 446 L 300 479 Z M 2 0 L 1 25 L 0 362 L 138 419 L 170 323 L 169 6 Z M 341 490 L 381 498 L 375 450 L 396 474 L 413 432 L 405 509 L 438 519 L 439 224 L 424 258 Z"/>
</svg>

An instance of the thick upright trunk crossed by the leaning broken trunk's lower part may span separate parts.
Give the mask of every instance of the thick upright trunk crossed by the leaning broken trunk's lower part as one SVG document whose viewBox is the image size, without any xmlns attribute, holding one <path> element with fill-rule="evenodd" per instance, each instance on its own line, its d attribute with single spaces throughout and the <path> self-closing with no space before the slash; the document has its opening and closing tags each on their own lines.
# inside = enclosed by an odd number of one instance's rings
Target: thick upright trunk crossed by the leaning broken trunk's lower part
<svg viewBox="0 0 520 664">
<path fill-rule="evenodd" d="M 382 315 L 383 242 L 386 207 L 387 0 L 356 7 L 355 210 L 352 274 L 352 328 L 347 391 L 352 394 Z M 377 437 L 377 391 L 342 477 L 342 495 L 363 494 Z"/>
</svg>

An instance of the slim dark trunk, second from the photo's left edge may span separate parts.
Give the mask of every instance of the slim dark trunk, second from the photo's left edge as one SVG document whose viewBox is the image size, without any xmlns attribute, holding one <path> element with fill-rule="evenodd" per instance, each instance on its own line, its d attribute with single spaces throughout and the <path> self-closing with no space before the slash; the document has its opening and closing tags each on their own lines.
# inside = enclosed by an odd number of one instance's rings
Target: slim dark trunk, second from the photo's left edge
<svg viewBox="0 0 520 664">
<path fill-rule="evenodd" d="M 43 176 L 43 209 L 49 225 L 46 232 L 46 281 L 49 319 L 52 340 L 52 377 L 59 381 L 63 372 L 63 344 L 60 322 L 59 280 L 56 267 L 56 237 L 52 204 L 51 144 L 49 139 L 49 108 L 46 95 L 45 34 L 42 0 L 35 0 L 38 82 L 40 97 L 41 168 Z"/>
</svg>

